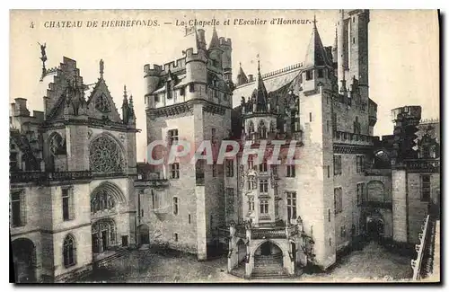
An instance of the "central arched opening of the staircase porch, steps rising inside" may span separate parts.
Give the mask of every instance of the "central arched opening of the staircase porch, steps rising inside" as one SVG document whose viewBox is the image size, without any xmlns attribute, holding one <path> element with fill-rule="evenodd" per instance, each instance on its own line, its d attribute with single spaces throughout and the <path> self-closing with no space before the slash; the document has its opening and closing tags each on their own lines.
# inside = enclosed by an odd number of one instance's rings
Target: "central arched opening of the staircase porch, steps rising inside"
<svg viewBox="0 0 449 292">
<path fill-rule="evenodd" d="M 254 276 L 279 275 L 284 273 L 282 250 L 276 243 L 264 242 L 254 252 Z"/>
</svg>

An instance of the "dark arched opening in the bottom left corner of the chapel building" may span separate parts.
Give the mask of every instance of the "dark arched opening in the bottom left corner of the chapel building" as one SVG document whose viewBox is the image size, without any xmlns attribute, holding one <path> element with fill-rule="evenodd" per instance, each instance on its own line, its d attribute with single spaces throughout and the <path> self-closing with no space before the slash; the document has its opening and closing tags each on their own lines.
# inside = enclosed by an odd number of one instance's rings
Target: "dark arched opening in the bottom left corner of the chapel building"
<svg viewBox="0 0 449 292">
<path fill-rule="evenodd" d="M 36 247 L 28 238 L 18 238 L 12 243 L 16 283 L 35 283 Z"/>
</svg>

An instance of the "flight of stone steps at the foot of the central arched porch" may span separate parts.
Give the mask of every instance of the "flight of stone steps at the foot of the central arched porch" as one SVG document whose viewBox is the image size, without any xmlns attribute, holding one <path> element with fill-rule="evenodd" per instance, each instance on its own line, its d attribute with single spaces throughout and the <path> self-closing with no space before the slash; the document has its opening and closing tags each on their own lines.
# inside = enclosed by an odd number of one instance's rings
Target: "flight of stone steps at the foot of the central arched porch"
<svg viewBox="0 0 449 292">
<path fill-rule="evenodd" d="M 288 278 L 288 273 L 283 266 L 282 253 L 271 255 L 255 255 L 254 269 L 251 278 L 253 279 L 273 279 Z"/>
</svg>

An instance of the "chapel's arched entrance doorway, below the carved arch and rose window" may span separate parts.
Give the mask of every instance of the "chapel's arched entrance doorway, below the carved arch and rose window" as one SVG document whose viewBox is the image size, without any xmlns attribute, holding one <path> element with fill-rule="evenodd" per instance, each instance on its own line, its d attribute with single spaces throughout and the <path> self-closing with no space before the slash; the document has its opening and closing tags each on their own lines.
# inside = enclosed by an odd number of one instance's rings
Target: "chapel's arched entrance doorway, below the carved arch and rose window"
<svg viewBox="0 0 449 292">
<path fill-rule="evenodd" d="M 105 252 L 117 245 L 117 229 L 114 220 L 101 219 L 92 225 L 92 252 Z"/>
</svg>

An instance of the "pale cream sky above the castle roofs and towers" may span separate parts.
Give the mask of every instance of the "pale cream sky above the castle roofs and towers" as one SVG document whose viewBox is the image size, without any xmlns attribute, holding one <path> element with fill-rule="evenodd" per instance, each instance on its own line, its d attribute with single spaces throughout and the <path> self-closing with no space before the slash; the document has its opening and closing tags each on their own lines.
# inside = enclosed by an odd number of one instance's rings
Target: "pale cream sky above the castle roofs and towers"
<svg viewBox="0 0 449 292">
<path fill-rule="evenodd" d="M 99 61 L 104 61 L 104 79 L 121 112 L 123 85 L 132 94 L 136 108 L 137 159 L 145 158 L 145 82 L 143 67 L 147 63 L 163 65 L 181 58 L 186 48 L 184 27 L 176 20 L 192 18 L 223 22 L 219 37 L 233 42 L 233 79 L 239 62 L 245 73 L 256 71 L 256 55 L 260 54 L 263 73 L 302 62 L 312 32 L 305 25 L 234 26 L 238 18 L 272 18 L 312 20 L 316 14 L 318 31 L 325 46 L 334 42 L 336 10 L 321 11 L 13 11 L 10 41 L 10 102 L 16 97 L 28 99 L 32 112 L 43 110 L 40 94 L 41 62 L 38 42 L 47 43 L 47 67 L 58 66 L 63 56 L 73 58 L 85 84 L 99 77 Z M 392 134 L 390 111 L 403 105 L 421 105 L 422 118 L 439 118 L 439 27 L 436 11 L 372 10 L 369 23 L 370 98 L 378 104 L 374 135 Z M 157 20 L 157 27 L 87 28 L 87 21 L 99 25 L 108 20 Z M 49 21 L 83 21 L 83 28 L 49 29 Z M 33 28 L 31 28 L 31 22 Z M 172 22 L 173 24 L 164 24 Z M 212 27 L 205 27 L 210 41 Z"/>
</svg>

